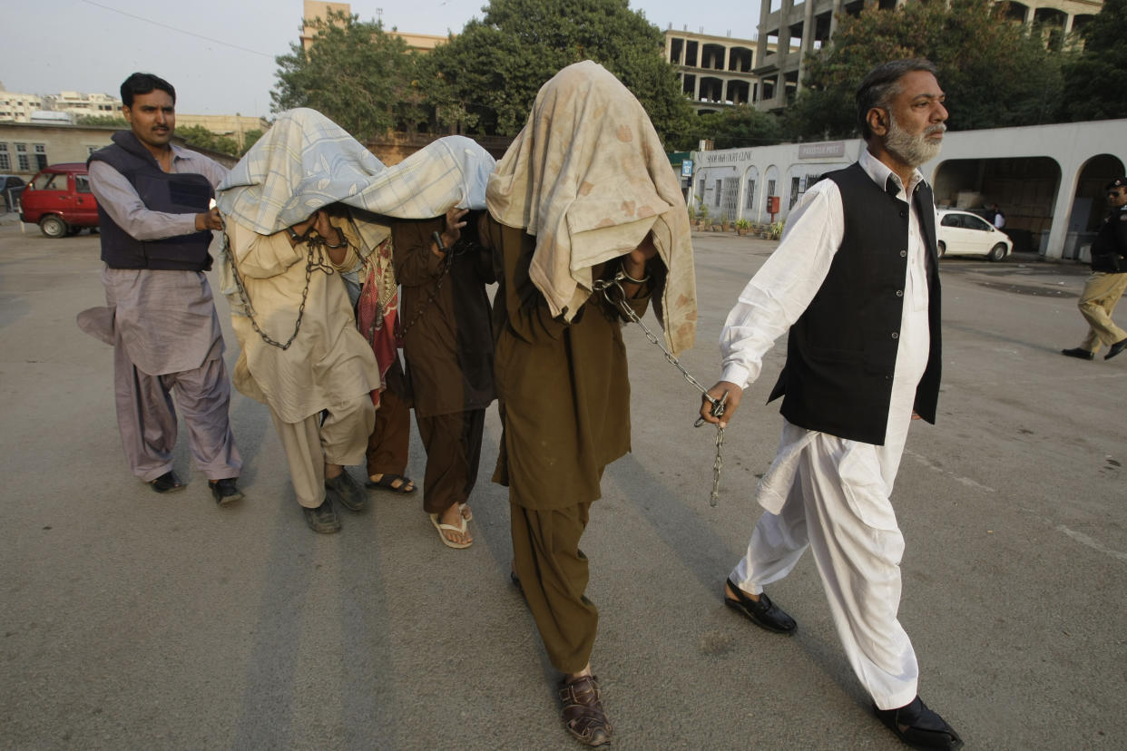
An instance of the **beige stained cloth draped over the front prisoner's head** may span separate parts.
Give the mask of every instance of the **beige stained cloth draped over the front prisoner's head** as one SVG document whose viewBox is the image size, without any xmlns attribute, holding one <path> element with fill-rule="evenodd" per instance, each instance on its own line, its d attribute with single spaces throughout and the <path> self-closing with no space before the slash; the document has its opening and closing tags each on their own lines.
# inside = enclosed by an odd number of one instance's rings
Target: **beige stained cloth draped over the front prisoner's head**
<svg viewBox="0 0 1127 751">
<path fill-rule="evenodd" d="M 654 233 L 668 269 L 654 301 L 676 354 L 696 331 L 693 248 L 681 186 L 646 110 L 602 65 L 568 65 L 536 95 L 524 129 L 489 176 L 489 213 L 536 238 L 530 276 L 553 315 L 591 295 L 591 267 Z"/>
</svg>

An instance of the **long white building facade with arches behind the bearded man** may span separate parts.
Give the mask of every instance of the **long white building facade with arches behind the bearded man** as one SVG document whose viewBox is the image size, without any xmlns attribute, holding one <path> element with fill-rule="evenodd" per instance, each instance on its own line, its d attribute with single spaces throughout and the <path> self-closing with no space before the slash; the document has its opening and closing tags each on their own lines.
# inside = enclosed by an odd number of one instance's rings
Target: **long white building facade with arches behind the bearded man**
<svg viewBox="0 0 1127 751">
<path fill-rule="evenodd" d="M 1127 173 L 1124 133 L 1127 119 L 949 132 L 920 170 L 941 208 L 1001 206 L 1015 250 L 1083 259 L 1107 214 L 1103 186 Z M 863 147 L 855 138 L 693 152 L 687 200 L 729 221 L 786 221 L 807 188 Z"/>
</svg>

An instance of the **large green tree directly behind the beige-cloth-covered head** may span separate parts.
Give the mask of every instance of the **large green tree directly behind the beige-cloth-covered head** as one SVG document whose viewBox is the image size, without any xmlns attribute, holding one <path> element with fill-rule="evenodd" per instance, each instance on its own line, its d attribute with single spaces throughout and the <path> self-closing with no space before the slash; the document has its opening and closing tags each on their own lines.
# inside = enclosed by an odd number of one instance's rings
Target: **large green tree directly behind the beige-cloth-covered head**
<svg viewBox="0 0 1127 751">
<path fill-rule="evenodd" d="M 516 135 L 548 79 L 594 60 L 638 97 L 663 140 L 689 137 L 691 110 L 662 33 L 628 0 L 491 0 L 483 10 L 425 63 L 440 124 Z"/>
</svg>

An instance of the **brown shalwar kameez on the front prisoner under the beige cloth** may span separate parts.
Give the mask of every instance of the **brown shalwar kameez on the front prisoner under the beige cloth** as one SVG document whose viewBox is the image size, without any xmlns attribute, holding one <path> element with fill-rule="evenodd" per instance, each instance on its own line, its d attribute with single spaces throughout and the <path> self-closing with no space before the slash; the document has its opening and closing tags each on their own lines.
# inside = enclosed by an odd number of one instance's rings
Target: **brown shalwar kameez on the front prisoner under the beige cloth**
<svg viewBox="0 0 1127 751">
<path fill-rule="evenodd" d="M 489 239 L 503 265 L 494 312 L 503 429 L 494 482 L 509 488 L 514 564 L 544 649 L 557 670 L 575 673 L 586 667 L 598 626 L 584 596 L 579 537 L 603 468 L 630 450 L 622 319 L 600 297 L 570 324 L 553 319 L 529 278 L 536 239 L 494 220 Z M 606 266 L 618 270 L 616 262 Z M 639 315 L 650 290 L 645 285 L 630 301 Z"/>
</svg>

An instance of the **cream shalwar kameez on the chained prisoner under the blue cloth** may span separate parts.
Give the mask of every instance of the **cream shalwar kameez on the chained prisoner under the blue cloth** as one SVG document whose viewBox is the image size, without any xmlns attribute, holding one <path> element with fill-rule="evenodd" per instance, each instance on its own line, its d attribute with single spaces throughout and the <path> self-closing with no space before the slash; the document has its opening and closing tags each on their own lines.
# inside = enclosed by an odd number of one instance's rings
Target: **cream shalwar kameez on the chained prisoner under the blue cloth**
<svg viewBox="0 0 1127 751">
<path fill-rule="evenodd" d="M 230 218 L 227 232 L 258 327 L 284 343 L 305 287 L 305 243 L 291 245 L 284 232 L 263 235 Z M 269 406 L 294 493 L 307 508 L 325 500 L 326 463 L 363 464 L 375 420 L 370 394 L 380 387 L 375 355 L 356 330 L 340 278 L 341 270 L 358 262 L 357 239 L 348 227 L 341 232 L 349 239 L 345 259 L 331 265 L 323 251 L 328 266 L 309 277 L 301 329 L 289 349 L 263 341 L 249 316 L 231 316 L 241 348 L 232 381 L 241 393 Z M 328 411 L 323 422 L 322 411 Z"/>
</svg>

